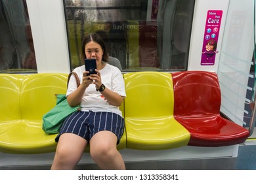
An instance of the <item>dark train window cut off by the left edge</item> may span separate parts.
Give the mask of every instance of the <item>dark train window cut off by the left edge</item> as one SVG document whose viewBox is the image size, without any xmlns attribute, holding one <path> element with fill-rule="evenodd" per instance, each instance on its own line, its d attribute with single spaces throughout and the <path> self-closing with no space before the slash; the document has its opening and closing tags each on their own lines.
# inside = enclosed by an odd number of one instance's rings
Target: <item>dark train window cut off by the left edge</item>
<svg viewBox="0 0 256 183">
<path fill-rule="evenodd" d="M 26 0 L 0 0 L 0 73 L 36 73 Z"/>
</svg>

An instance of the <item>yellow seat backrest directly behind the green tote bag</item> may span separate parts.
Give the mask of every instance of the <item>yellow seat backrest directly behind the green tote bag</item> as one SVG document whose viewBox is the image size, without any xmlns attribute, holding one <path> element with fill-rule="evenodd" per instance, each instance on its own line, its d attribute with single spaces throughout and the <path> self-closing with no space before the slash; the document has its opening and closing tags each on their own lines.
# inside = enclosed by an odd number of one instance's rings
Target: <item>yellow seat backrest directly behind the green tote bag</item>
<svg viewBox="0 0 256 183">
<path fill-rule="evenodd" d="M 55 94 L 65 94 L 68 74 L 40 73 L 24 77 L 20 93 L 22 118 L 42 120 L 43 114 L 56 105 Z"/>
</svg>

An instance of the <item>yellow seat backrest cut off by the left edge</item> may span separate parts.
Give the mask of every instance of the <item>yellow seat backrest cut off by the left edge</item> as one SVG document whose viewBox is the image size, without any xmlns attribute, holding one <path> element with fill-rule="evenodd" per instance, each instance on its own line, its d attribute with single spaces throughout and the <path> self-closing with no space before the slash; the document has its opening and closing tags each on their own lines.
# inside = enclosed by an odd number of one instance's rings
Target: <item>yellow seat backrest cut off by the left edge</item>
<svg viewBox="0 0 256 183">
<path fill-rule="evenodd" d="M 0 75 L 0 124 L 20 120 L 20 87 L 22 75 Z"/>
</svg>

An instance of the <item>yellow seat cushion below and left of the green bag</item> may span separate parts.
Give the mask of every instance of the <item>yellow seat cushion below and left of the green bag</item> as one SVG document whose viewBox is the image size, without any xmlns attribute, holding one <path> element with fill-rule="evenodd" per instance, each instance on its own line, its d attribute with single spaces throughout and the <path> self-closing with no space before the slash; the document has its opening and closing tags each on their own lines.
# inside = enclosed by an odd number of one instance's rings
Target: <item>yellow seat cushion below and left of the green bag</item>
<svg viewBox="0 0 256 183">
<path fill-rule="evenodd" d="M 1 152 L 11 154 L 41 154 L 54 152 L 56 134 L 47 135 L 41 121 L 22 120 L 0 135 Z"/>
</svg>

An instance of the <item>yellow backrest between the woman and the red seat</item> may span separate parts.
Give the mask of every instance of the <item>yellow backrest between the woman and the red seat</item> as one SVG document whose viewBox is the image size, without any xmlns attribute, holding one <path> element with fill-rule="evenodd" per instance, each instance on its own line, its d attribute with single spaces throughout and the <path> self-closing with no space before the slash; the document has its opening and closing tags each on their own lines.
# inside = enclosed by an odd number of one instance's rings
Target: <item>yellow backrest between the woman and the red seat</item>
<svg viewBox="0 0 256 183">
<path fill-rule="evenodd" d="M 125 118 L 173 116 L 173 83 L 170 73 L 125 73 Z"/>
</svg>

